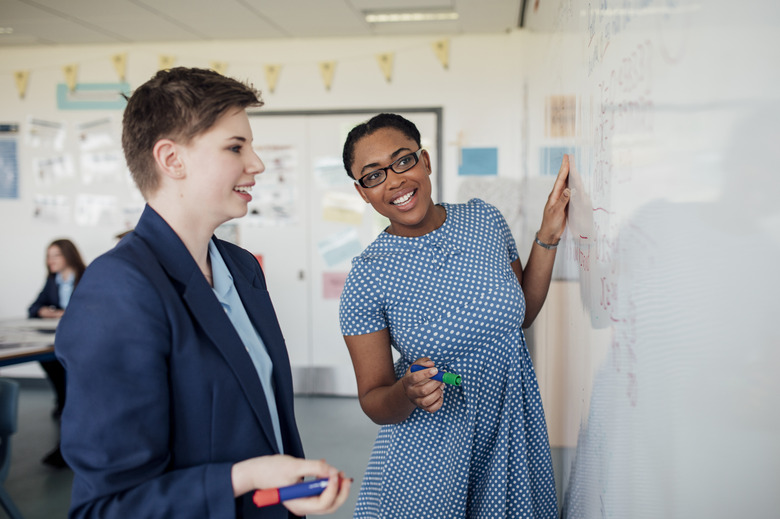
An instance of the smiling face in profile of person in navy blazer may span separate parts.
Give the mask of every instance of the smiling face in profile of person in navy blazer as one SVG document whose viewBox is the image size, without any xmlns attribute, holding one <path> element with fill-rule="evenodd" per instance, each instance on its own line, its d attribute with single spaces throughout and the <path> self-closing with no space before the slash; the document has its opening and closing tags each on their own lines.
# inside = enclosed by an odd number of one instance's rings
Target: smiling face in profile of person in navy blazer
<svg viewBox="0 0 780 519">
<path fill-rule="evenodd" d="M 205 133 L 177 145 L 184 181 L 177 182 L 188 213 L 218 227 L 247 212 L 255 175 L 265 165 L 252 149 L 252 129 L 244 109 L 231 110 Z"/>
</svg>

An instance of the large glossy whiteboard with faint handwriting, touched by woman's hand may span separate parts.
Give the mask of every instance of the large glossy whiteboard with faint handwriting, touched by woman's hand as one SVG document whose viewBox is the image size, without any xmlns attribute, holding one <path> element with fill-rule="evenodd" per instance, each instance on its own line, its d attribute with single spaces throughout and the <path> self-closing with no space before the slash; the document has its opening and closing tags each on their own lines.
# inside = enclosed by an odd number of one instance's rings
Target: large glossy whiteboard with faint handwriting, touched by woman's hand
<svg viewBox="0 0 780 519">
<path fill-rule="evenodd" d="M 780 6 L 527 4 L 531 214 L 574 157 L 530 330 L 563 516 L 776 517 Z"/>
</svg>

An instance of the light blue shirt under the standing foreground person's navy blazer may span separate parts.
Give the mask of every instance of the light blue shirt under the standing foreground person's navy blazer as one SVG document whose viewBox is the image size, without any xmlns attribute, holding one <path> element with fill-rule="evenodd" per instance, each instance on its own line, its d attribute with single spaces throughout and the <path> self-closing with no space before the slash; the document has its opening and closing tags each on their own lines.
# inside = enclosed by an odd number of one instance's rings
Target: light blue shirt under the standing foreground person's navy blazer
<svg viewBox="0 0 780 519">
<path fill-rule="evenodd" d="M 217 296 L 222 308 L 225 309 L 230 322 L 233 323 L 233 328 L 238 332 L 238 336 L 241 337 L 246 351 L 249 352 L 249 356 L 252 358 L 257 375 L 263 384 L 263 391 L 265 391 L 268 411 L 271 414 L 271 422 L 274 426 L 276 444 L 279 446 L 279 452 L 284 453 L 282 431 L 279 426 L 279 412 L 276 409 L 276 395 L 273 387 L 272 375 L 274 366 L 271 362 L 271 357 L 268 355 L 263 339 L 260 338 L 260 334 L 257 333 L 257 330 L 252 325 L 252 321 L 249 320 L 244 304 L 241 302 L 241 298 L 233 284 L 233 276 L 230 274 L 227 265 L 225 265 L 225 260 L 222 259 L 213 241 L 209 242 L 209 257 L 211 258 L 211 275 L 214 278 L 214 294 Z"/>
</svg>

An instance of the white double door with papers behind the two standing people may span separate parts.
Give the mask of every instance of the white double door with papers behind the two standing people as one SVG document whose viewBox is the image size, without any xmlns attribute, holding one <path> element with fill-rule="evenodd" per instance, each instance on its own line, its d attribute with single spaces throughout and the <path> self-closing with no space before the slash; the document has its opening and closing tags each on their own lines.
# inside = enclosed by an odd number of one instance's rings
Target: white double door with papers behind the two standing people
<svg viewBox="0 0 780 519">
<path fill-rule="evenodd" d="M 255 148 L 267 168 L 253 192 L 255 209 L 271 214 L 250 214 L 242 220 L 241 245 L 263 255 L 298 393 L 357 395 L 339 328 L 338 297 L 352 258 L 387 221 L 355 191 L 341 151 L 349 130 L 375 113 L 261 112 L 250 117 Z M 438 161 L 437 113 L 397 113 L 417 125 L 423 146 Z M 277 168 L 287 171 L 282 179 Z M 432 181 L 436 196 L 436 174 Z M 293 203 L 286 205 L 290 200 Z"/>
</svg>

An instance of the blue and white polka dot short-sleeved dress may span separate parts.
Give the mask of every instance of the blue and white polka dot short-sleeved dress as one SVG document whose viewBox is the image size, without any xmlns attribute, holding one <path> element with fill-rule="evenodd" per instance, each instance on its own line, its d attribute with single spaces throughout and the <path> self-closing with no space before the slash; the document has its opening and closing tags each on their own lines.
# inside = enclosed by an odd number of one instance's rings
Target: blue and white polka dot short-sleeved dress
<svg viewBox="0 0 780 519">
<path fill-rule="evenodd" d="M 442 205 L 444 225 L 425 236 L 382 233 L 353 260 L 341 296 L 342 333 L 389 328 L 399 377 L 427 356 L 463 379 L 445 386 L 439 411 L 380 428 L 354 517 L 554 518 L 514 240 L 481 200 Z"/>
</svg>

